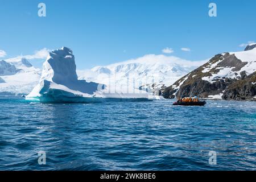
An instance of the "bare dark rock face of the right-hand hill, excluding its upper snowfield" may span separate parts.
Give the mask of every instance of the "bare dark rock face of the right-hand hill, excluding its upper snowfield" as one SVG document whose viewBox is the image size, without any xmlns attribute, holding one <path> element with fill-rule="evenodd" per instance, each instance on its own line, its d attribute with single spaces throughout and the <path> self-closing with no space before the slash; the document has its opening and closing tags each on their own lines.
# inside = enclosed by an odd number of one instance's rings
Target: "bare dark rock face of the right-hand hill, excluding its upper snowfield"
<svg viewBox="0 0 256 182">
<path fill-rule="evenodd" d="M 217 64 L 212 68 L 213 64 Z M 255 82 L 256 72 L 247 76 L 245 71 L 240 72 L 247 62 L 242 62 L 233 54 L 215 55 L 208 63 L 195 69 L 188 75 L 177 80 L 173 85 L 163 90 L 164 98 L 179 98 L 198 96 L 207 98 L 210 95 L 223 94 L 225 100 L 251 100 L 256 94 Z M 205 68 L 209 71 L 205 72 Z M 214 77 L 211 82 L 203 79 L 217 75 L 221 69 L 233 68 L 232 72 L 237 72 L 235 78 Z M 238 74 L 240 74 L 238 76 Z M 253 84 L 254 83 L 254 84 Z"/>
</svg>

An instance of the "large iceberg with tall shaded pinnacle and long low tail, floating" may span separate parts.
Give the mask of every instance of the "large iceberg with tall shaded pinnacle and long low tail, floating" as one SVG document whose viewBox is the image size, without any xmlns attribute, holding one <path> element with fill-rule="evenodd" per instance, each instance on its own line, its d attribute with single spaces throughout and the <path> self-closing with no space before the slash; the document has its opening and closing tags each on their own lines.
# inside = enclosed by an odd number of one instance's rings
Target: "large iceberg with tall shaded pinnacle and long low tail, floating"
<svg viewBox="0 0 256 182">
<path fill-rule="evenodd" d="M 26 100 L 40 102 L 152 101 L 157 98 L 135 88 L 110 88 L 79 80 L 75 56 L 67 47 L 49 52 L 39 84 L 26 96 Z"/>
</svg>

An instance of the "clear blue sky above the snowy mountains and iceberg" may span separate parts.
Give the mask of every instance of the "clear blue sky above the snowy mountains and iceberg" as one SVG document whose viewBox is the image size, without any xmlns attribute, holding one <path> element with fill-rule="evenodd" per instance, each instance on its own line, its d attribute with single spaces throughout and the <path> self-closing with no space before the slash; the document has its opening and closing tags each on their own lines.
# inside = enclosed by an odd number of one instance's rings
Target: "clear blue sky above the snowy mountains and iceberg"
<svg viewBox="0 0 256 182">
<path fill-rule="evenodd" d="M 38 16 L 40 2 L 45 18 Z M 208 16 L 210 2 L 217 17 Z M 204 60 L 256 41 L 255 18 L 255 0 L 0 0 L 0 50 L 8 58 L 67 46 L 79 69 L 161 54 L 165 47 L 174 49 L 169 55 Z"/>
</svg>

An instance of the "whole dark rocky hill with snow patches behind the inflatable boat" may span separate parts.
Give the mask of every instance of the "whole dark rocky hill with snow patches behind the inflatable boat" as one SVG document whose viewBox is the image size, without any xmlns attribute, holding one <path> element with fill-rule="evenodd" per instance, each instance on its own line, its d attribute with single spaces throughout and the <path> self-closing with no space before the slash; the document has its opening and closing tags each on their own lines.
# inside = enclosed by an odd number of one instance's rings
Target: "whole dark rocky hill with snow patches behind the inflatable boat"
<svg viewBox="0 0 256 182">
<path fill-rule="evenodd" d="M 250 44 L 241 52 L 215 55 L 166 88 L 163 96 L 251 100 L 256 94 L 255 82 L 256 44 Z"/>
</svg>

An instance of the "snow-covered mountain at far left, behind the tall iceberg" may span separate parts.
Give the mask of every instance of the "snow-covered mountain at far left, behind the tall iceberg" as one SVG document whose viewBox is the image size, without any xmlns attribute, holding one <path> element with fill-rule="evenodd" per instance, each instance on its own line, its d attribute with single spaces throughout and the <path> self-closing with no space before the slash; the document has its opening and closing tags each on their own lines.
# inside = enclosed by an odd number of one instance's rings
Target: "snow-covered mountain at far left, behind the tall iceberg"
<svg viewBox="0 0 256 182">
<path fill-rule="evenodd" d="M 41 71 L 27 59 L 15 57 L 0 62 L 0 74 L 3 80 L 0 81 L 0 95 L 10 96 L 30 93 L 38 83 Z"/>
</svg>

